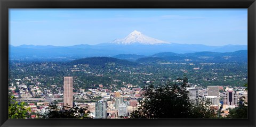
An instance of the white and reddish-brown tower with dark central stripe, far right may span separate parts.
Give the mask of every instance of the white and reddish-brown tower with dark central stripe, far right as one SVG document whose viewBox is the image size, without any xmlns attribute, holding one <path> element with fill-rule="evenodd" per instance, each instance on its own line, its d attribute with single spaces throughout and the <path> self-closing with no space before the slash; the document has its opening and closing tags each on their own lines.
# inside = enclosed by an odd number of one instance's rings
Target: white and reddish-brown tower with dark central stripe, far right
<svg viewBox="0 0 256 127">
<path fill-rule="evenodd" d="M 224 96 L 223 105 L 228 107 L 238 107 L 239 99 L 237 97 L 236 91 L 233 89 L 228 89 Z"/>
</svg>

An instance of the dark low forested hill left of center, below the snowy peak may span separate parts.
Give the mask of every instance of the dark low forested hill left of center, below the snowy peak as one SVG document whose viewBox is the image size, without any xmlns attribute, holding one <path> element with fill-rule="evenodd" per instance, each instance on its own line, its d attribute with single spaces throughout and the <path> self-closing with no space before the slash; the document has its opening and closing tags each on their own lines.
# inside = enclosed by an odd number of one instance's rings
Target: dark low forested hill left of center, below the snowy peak
<svg viewBox="0 0 256 127">
<path fill-rule="evenodd" d="M 120 60 L 118 58 L 113 57 L 88 57 L 88 58 L 81 58 L 78 60 L 74 60 L 70 62 L 72 65 L 77 64 L 89 64 L 89 65 L 130 65 L 130 66 L 137 66 L 138 63 L 127 61 L 127 60 Z"/>
</svg>

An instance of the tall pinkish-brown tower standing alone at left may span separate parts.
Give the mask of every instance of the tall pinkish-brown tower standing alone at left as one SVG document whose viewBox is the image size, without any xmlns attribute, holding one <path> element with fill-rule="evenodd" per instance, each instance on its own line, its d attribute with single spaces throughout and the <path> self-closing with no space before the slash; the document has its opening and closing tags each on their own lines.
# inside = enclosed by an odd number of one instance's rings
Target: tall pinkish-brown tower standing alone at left
<svg viewBox="0 0 256 127">
<path fill-rule="evenodd" d="M 63 106 L 73 107 L 73 77 L 64 77 L 64 104 Z"/>
</svg>

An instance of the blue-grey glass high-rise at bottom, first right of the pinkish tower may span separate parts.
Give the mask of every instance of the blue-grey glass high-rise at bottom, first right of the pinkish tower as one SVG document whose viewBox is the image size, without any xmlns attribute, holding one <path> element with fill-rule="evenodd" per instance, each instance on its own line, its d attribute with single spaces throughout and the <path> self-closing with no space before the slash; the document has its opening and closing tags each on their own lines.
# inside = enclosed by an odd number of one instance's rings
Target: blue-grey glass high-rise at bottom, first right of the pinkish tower
<svg viewBox="0 0 256 127">
<path fill-rule="evenodd" d="M 95 118 L 107 118 L 107 101 L 99 100 L 95 103 Z"/>
</svg>

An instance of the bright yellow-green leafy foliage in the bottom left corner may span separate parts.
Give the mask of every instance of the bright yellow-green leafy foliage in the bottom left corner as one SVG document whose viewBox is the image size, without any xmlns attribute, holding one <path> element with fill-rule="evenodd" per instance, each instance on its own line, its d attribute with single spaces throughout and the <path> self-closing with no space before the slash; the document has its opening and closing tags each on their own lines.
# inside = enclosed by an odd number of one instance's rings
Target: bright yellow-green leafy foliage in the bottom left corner
<svg viewBox="0 0 256 127">
<path fill-rule="evenodd" d="M 25 107 L 25 102 L 18 103 L 15 101 L 14 96 L 10 93 L 8 96 L 8 118 L 28 118 L 31 112 L 30 107 Z"/>
</svg>

